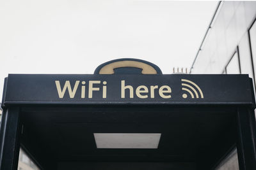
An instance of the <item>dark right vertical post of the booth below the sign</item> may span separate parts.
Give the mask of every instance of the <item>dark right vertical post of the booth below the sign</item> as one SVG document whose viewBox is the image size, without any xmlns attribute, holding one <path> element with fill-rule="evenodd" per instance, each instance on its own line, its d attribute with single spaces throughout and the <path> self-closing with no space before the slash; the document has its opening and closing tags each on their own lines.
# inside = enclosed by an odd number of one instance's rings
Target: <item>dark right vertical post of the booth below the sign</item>
<svg viewBox="0 0 256 170">
<path fill-rule="evenodd" d="M 240 170 L 256 169 L 256 127 L 253 109 L 237 110 L 237 153 Z"/>
</svg>

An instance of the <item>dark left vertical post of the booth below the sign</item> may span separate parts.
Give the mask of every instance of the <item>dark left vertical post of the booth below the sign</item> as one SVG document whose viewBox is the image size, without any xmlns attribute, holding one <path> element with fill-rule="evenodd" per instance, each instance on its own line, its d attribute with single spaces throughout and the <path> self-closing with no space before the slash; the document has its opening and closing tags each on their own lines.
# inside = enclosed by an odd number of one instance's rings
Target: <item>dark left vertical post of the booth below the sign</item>
<svg viewBox="0 0 256 170">
<path fill-rule="evenodd" d="M 20 149 L 19 108 L 3 110 L 0 129 L 0 170 L 17 170 Z"/>
</svg>

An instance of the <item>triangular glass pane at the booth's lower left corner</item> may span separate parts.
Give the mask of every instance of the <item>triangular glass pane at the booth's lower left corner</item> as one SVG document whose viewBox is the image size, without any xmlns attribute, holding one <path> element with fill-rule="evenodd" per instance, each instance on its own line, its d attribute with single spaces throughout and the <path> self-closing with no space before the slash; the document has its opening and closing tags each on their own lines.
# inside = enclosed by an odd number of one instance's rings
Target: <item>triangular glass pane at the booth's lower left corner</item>
<svg viewBox="0 0 256 170">
<path fill-rule="evenodd" d="M 29 159 L 28 155 L 20 148 L 18 169 L 22 170 L 40 170 L 36 164 Z"/>
</svg>

